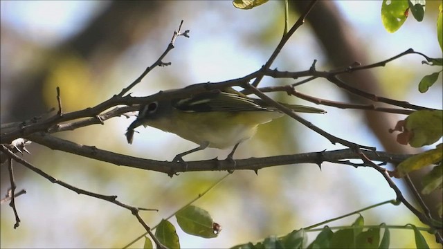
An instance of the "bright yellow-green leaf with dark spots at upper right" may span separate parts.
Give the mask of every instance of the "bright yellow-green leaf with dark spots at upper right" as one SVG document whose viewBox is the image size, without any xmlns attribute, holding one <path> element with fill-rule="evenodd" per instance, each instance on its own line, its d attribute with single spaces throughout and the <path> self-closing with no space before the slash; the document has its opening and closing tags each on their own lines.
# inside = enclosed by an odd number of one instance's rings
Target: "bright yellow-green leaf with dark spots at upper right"
<svg viewBox="0 0 443 249">
<path fill-rule="evenodd" d="M 383 0 L 381 22 L 389 33 L 397 31 L 408 18 L 408 0 Z"/>
</svg>

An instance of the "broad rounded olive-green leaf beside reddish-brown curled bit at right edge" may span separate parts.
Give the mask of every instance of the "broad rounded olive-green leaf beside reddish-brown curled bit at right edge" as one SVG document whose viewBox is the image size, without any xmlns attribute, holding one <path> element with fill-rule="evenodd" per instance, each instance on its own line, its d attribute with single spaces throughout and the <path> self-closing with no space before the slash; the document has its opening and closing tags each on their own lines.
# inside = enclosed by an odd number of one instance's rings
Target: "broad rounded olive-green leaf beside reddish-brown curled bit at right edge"
<svg viewBox="0 0 443 249">
<path fill-rule="evenodd" d="M 409 145 L 432 145 L 443 135 L 443 111 L 414 111 L 406 118 L 405 128 L 413 132 Z"/>
</svg>

